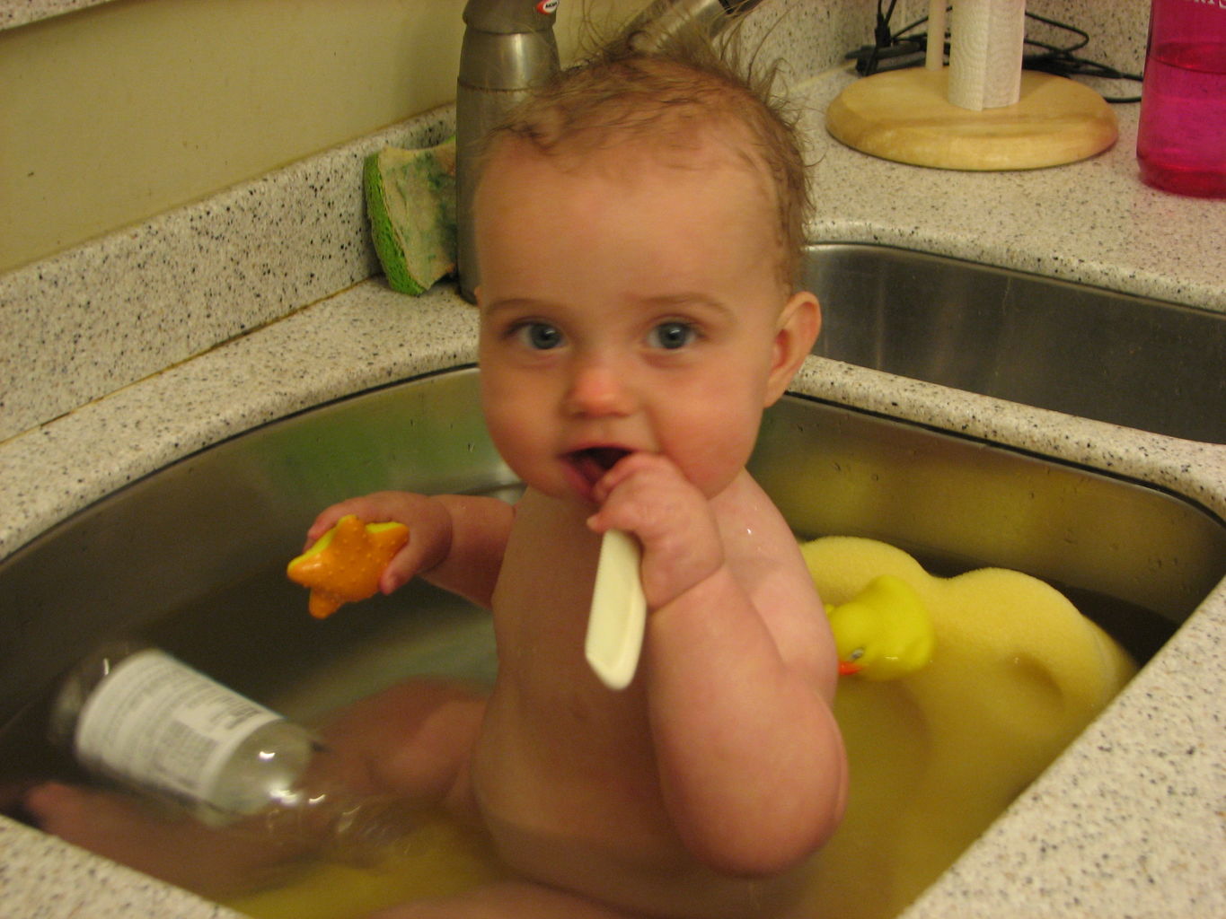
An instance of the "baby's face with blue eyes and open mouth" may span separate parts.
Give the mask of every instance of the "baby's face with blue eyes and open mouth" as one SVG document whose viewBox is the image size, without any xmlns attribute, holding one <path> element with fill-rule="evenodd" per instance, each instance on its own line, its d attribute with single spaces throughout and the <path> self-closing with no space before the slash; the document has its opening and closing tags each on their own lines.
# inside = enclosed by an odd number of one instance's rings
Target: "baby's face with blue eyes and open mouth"
<svg viewBox="0 0 1226 919">
<path fill-rule="evenodd" d="M 603 468 L 641 450 L 714 496 L 787 382 L 765 183 L 720 147 L 685 159 L 614 148 L 575 163 L 508 141 L 484 173 L 485 418 L 546 494 L 590 500 Z"/>
</svg>

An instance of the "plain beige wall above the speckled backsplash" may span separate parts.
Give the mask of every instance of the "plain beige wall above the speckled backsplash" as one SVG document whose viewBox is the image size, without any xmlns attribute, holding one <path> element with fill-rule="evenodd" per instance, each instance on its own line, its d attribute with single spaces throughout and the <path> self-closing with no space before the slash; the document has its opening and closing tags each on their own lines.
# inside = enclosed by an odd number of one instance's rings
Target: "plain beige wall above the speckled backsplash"
<svg viewBox="0 0 1226 919">
<path fill-rule="evenodd" d="M 452 100 L 462 10 L 116 0 L 0 32 L 0 271 Z"/>
</svg>

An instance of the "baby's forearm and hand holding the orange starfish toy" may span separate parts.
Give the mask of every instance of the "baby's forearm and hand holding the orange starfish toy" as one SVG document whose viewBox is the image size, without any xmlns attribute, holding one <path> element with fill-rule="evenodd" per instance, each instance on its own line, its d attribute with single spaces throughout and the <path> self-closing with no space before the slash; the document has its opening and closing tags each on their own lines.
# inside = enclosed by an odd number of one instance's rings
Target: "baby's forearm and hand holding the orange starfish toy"
<svg viewBox="0 0 1226 919">
<path fill-rule="evenodd" d="M 324 510 L 306 531 L 306 545 L 347 513 L 365 523 L 396 521 L 408 527 L 408 543 L 379 580 L 384 593 L 421 576 L 489 607 L 515 516 L 511 505 L 495 497 L 376 491 Z"/>
</svg>

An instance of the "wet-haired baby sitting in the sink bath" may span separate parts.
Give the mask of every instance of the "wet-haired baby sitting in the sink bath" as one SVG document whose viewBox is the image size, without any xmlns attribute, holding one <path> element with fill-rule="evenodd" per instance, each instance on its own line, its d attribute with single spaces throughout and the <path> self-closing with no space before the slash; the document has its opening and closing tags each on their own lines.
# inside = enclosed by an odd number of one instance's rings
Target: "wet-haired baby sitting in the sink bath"
<svg viewBox="0 0 1226 919">
<path fill-rule="evenodd" d="M 818 335 L 793 293 L 804 176 L 783 120 L 706 64 L 611 55 L 498 130 L 476 195 L 487 424 L 522 499 L 380 493 L 383 575 L 493 610 L 492 692 L 412 681 L 327 729 L 353 784 L 441 803 L 514 879 L 424 917 L 783 917 L 839 823 L 834 643 L 794 538 L 745 472 Z M 642 548 L 642 659 L 584 657 L 601 534 Z"/>
</svg>

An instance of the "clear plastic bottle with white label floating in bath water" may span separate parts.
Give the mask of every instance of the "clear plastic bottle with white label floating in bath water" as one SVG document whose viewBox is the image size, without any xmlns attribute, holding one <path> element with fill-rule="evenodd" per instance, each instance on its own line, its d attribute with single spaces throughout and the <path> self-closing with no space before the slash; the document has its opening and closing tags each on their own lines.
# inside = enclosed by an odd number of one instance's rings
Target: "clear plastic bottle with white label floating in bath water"
<svg viewBox="0 0 1226 919">
<path fill-rule="evenodd" d="M 322 787 L 326 770 L 313 767 L 333 754 L 311 732 L 146 645 L 109 643 L 77 664 L 50 735 L 88 772 L 213 827 L 309 839 L 342 860 L 365 860 L 412 828 L 390 795 Z"/>
</svg>

